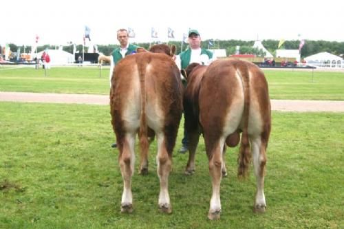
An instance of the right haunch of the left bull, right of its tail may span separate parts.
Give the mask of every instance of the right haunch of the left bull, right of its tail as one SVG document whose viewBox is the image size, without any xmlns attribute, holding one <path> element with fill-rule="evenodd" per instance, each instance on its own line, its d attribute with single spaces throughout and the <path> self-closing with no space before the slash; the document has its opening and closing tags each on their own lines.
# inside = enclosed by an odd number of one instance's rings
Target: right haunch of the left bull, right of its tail
<svg viewBox="0 0 344 229">
<path fill-rule="evenodd" d="M 182 81 L 178 67 L 166 54 L 150 54 L 145 66 L 147 122 L 151 129 L 179 124 L 182 113 Z M 160 129 L 161 130 L 161 129 Z"/>
</svg>

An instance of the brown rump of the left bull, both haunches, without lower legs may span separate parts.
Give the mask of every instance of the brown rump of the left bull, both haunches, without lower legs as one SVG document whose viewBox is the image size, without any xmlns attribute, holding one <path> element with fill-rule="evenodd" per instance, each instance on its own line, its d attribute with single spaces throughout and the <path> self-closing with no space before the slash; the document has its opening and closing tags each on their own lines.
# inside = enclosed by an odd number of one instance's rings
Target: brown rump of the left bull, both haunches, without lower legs
<svg viewBox="0 0 344 229">
<path fill-rule="evenodd" d="M 138 131 L 142 99 L 147 125 L 155 132 L 175 122 L 171 116 L 178 119 L 182 112 L 182 85 L 178 67 L 169 56 L 142 52 L 118 62 L 110 93 L 116 135 Z"/>
</svg>

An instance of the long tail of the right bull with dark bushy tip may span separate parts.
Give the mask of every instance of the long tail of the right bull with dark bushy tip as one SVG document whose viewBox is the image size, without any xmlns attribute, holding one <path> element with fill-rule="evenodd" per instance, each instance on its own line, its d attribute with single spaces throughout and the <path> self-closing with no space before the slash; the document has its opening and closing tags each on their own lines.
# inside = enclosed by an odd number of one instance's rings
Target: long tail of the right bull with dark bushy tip
<svg viewBox="0 0 344 229">
<path fill-rule="evenodd" d="M 243 129 L 241 136 L 241 144 L 238 155 L 238 176 L 246 177 L 248 175 L 248 167 L 250 166 L 250 142 L 248 139 L 248 116 L 250 113 L 250 78 L 248 75 L 248 66 L 244 63 L 237 65 L 237 74 L 241 76 L 244 86 L 244 113 L 243 113 Z"/>
</svg>

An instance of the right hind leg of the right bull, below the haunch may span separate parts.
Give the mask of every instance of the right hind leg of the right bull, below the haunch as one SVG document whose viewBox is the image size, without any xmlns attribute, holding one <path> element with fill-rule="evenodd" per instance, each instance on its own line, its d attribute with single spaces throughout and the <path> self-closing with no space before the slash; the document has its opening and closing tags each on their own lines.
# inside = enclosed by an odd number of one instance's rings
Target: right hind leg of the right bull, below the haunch
<svg viewBox="0 0 344 229">
<path fill-rule="evenodd" d="M 264 175 L 266 166 L 266 146 L 267 142 L 262 142 L 261 137 L 251 139 L 252 160 L 257 179 L 257 193 L 255 197 L 255 212 L 265 212 L 266 201 L 264 195 Z"/>
</svg>

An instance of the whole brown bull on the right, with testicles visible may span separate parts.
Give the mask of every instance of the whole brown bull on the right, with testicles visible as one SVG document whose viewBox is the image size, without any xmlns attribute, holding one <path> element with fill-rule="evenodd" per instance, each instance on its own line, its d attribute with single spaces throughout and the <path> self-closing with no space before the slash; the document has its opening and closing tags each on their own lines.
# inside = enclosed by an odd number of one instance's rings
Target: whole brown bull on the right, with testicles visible
<svg viewBox="0 0 344 229">
<path fill-rule="evenodd" d="M 252 63 L 227 59 L 209 66 L 192 64 L 186 69 L 186 75 L 184 112 L 190 141 L 186 173 L 195 170 L 195 150 L 203 133 L 213 184 L 208 218 L 219 219 L 221 212 L 219 190 L 222 175 L 226 174 L 225 144 L 236 146 L 241 132 L 238 175 L 247 175 L 252 154 L 257 177 L 255 211 L 264 212 L 264 171 L 271 128 L 264 73 Z"/>
</svg>

